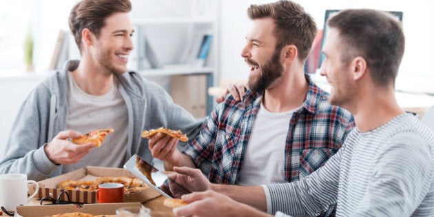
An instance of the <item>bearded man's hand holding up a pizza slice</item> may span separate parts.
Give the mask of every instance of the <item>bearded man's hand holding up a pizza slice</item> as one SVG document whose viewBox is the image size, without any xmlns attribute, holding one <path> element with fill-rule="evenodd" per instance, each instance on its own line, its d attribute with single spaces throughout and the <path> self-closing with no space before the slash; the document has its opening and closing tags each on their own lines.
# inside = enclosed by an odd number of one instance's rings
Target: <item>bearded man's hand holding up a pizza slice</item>
<svg viewBox="0 0 434 217">
<path fill-rule="evenodd" d="M 167 161 L 172 165 L 177 165 L 181 153 L 176 145 L 178 145 L 178 139 L 168 136 L 167 134 L 158 133 L 149 138 L 149 149 L 152 156 L 158 158 L 161 161 Z"/>
</svg>

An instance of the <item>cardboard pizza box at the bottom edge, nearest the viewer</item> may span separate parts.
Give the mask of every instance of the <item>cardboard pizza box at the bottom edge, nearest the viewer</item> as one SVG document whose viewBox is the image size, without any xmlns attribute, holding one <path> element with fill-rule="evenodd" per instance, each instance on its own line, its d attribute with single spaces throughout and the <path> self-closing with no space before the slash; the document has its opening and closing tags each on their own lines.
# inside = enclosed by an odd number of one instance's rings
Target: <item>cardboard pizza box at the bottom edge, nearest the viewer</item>
<svg viewBox="0 0 434 217">
<path fill-rule="evenodd" d="M 141 207 L 141 203 L 99 203 L 79 205 L 45 205 L 45 206 L 18 206 L 16 216 L 20 217 L 46 217 L 56 214 L 83 212 L 93 215 L 115 215 L 116 209 L 121 207 Z"/>
</svg>

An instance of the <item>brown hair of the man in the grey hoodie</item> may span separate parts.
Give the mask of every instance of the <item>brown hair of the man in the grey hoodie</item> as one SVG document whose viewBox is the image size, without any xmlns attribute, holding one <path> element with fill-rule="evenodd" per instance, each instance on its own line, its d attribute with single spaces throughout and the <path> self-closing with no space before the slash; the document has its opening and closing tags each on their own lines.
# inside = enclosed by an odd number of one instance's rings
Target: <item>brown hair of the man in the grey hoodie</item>
<svg viewBox="0 0 434 217">
<path fill-rule="evenodd" d="M 107 17 L 116 12 L 130 12 L 131 9 L 130 0 L 83 0 L 76 3 L 70 12 L 69 25 L 80 52 L 83 29 L 87 28 L 99 37 Z"/>
</svg>

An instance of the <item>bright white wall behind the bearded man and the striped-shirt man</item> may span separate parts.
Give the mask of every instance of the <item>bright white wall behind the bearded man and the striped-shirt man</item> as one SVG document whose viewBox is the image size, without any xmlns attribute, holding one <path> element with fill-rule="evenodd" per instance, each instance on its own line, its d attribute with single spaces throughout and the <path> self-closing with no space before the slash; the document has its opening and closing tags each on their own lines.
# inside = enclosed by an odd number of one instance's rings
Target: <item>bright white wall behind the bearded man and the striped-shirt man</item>
<svg viewBox="0 0 434 217">
<path fill-rule="evenodd" d="M 340 1 L 340 0 L 295 0 L 316 20 L 318 28 L 324 25 L 324 11 L 327 9 L 373 8 L 378 10 L 404 12 L 403 28 L 406 35 L 406 52 L 398 76 L 397 87 L 434 93 L 434 72 L 431 61 L 434 59 L 434 30 L 431 17 L 431 1 Z M 270 0 L 230 1 L 222 0 L 220 8 L 220 79 L 245 79 L 249 68 L 240 57 L 245 45 L 245 34 L 251 21 L 247 18 L 247 8 L 251 3 L 274 2 Z M 423 79 L 408 76 L 419 75 Z"/>
</svg>

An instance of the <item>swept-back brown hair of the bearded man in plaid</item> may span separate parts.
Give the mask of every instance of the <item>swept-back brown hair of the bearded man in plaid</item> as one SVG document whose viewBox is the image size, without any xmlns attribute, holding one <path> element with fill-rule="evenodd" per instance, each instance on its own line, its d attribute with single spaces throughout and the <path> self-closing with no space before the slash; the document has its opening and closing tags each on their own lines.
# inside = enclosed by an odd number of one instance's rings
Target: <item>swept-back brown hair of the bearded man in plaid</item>
<svg viewBox="0 0 434 217">
<path fill-rule="evenodd" d="M 265 5 L 251 5 L 247 10 L 250 19 L 271 17 L 274 19 L 276 28 L 276 50 L 285 45 L 293 44 L 298 49 L 300 61 L 307 59 L 313 39 L 318 29 L 312 17 L 304 12 L 304 8 L 292 1 L 277 1 Z"/>
</svg>

